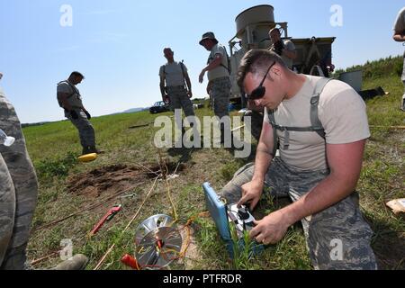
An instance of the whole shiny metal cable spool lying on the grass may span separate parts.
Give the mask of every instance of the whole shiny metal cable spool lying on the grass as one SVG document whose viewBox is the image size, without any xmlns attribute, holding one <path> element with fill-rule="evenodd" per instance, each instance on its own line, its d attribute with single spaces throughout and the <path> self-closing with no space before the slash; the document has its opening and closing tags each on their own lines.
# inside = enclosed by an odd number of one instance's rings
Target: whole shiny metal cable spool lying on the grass
<svg viewBox="0 0 405 288">
<path fill-rule="evenodd" d="M 183 239 L 173 219 L 158 214 L 140 223 L 135 232 L 135 245 L 139 266 L 157 270 L 169 266 L 180 255 Z"/>
</svg>

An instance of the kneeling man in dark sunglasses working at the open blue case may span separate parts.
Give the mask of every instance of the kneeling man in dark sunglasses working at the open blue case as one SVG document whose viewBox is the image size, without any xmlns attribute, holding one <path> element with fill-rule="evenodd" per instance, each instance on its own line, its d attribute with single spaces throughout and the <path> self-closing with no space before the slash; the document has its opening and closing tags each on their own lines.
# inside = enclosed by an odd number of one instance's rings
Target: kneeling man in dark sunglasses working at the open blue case
<svg viewBox="0 0 405 288">
<path fill-rule="evenodd" d="M 251 210 L 263 193 L 292 200 L 255 221 L 250 237 L 275 244 L 301 220 L 315 269 L 376 269 L 373 231 L 355 192 L 370 137 L 360 95 L 338 80 L 295 74 L 261 49 L 242 59 L 238 85 L 265 107 L 265 121 L 255 164 L 239 169 L 220 196 Z"/>
</svg>

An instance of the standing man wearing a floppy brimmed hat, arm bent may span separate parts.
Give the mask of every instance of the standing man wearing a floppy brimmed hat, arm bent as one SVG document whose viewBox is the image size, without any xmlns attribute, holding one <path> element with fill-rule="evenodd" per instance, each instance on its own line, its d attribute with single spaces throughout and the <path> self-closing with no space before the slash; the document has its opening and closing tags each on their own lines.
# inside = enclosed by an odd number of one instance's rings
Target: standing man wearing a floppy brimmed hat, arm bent
<svg viewBox="0 0 405 288">
<path fill-rule="evenodd" d="M 225 47 L 220 45 L 219 41 L 216 40 L 213 32 L 204 33 L 200 45 L 210 51 L 210 57 L 208 58 L 207 66 L 202 69 L 199 81 L 202 83 L 205 73 L 208 72 L 209 84 L 207 90 L 211 91 L 210 95 L 212 97 L 215 116 L 219 117 L 221 120 L 223 117 L 229 116 L 231 84 L 229 78 L 228 54 Z M 224 123 L 220 125 L 222 143 L 225 141 L 225 130 L 227 130 L 227 132 L 230 130 L 229 125 L 225 125 Z"/>
</svg>

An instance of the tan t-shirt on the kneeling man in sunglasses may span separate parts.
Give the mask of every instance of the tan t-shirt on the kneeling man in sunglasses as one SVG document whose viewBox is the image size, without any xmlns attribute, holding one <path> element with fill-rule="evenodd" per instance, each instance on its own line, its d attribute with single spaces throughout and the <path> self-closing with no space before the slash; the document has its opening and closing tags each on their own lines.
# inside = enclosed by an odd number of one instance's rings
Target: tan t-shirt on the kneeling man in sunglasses
<svg viewBox="0 0 405 288">
<path fill-rule="evenodd" d="M 280 103 L 275 111 L 275 122 L 285 127 L 311 127 L 311 97 L 318 76 L 307 80 L 298 94 Z M 353 143 L 370 137 L 365 102 L 349 85 L 330 81 L 320 94 L 320 122 L 328 144 Z M 266 111 L 265 121 L 268 121 Z M 290 166 L 302 170 L 328 168 L 325 140 L 313 131 L 290 131 L 290 146 L 284 150 L 284 132 L 277 130 L 280 156 Z"/>
</svg>

